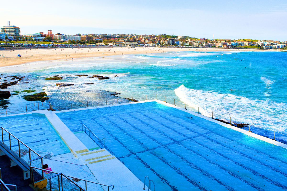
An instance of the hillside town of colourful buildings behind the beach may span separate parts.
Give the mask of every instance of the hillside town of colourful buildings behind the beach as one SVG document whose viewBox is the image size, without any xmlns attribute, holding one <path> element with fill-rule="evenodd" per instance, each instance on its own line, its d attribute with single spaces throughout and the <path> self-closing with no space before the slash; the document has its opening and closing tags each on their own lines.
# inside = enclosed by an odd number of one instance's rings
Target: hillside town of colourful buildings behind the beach
<svg viewBox="0 0 287 191">
<path fill-rule="evenodd" d="M 21 47 L 73 47 L 73 46 L 120 46 L 120 47 L 198 47 L 198 48 L 248 48 L 248 49 L 287 49 L 287 41 L 255 40 L 255 39 L 216 39 L 196 38 L 190 36 L 174 36 L 166 34 L 75 34 L 66 35 L 62 32 L 53 34 L 38 32 L 21 34 L 18 26 L 1 27 L 0 48 Z"/>
</svg>

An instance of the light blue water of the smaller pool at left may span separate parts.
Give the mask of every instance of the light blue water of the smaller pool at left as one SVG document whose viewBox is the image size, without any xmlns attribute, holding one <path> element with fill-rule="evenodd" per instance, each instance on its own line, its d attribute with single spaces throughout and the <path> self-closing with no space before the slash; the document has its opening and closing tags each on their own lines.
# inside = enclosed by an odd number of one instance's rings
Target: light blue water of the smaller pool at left
<svg viewBox="0 0 287 191">
<path fill-rule="evenodd" d="M 41 156 L 70 152 L 46 117 L 32 114 L 0 117 L 0 127 L 5 128 Z M 17 144 L 14 146 L 17 147 Z"/>
</svg>

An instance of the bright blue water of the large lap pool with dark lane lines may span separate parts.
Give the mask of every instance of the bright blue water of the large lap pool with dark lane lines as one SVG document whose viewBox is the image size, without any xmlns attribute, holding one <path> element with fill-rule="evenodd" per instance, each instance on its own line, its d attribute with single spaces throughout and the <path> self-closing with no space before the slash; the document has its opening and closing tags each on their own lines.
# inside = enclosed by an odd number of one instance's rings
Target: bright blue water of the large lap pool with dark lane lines
<svg viewBox="0 0 287 191">
<path fill-rule="evenodd" d="M 106 138 L 106 149 L 156 190 L 287 190 L 287 151 L 211 121 L 148 102 L 57 116 Z"/>
</svg>

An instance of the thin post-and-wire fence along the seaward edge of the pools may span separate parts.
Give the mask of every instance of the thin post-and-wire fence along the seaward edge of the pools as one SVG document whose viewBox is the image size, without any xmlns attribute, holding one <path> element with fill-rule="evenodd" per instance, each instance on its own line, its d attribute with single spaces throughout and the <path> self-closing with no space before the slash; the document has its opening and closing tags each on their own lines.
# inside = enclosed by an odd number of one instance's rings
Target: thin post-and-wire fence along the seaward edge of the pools
<svg viewBox="0 0 287 191">
<path fill-rule="evenodd" d="M 98 101 L 84 101 L 84 102 L 80 102 L 80 103 L 62 103 L 62 104 L 55 104 L 53 102 L 42 102 L 42 103 L 31 103 L 28 104 L 24 107 L 7 107 L 5 109 L 0 110 L 0 115 L 8 115 L 8 114 L 14 114 L 14 113 L 25 113 L 25 112 L 31 112 L 31 111 L 35 111 L 35 110 L 41 110 L 41 109 L 50 109 L 52 111 L 62 111 L 62 110 L 69 110 L 69 109 L 79 109 L 79 108 L 85 108 L 85 107 L 98 107 L 98 106 L 105 106 L 105 105 L 117 105 L 120 103 L 127 103 L 127 102 L 137 102 L 137 101 L 145 101 L 145 100 L 153 100 L 153 99 L 158 99 L 161 101 L 164 101 L 166 103 L 170 103 L 172 105 L 181 107 L 183 109 L 187 109 L 189 111 L 194 111 L 198 114 L 203 115 L 203 113 L 201 113 L 202 108 L 197 107 L 191 107 L 190 105 L 188 105 L 187 103 L 178 100 L 178 99 L 174 99 L 174 98 L 170 98 L 170 97 L 166 97 L 164 95 L 161 94 L 148 94 L 148 95 L 142 95 L 142 96 L 136 96 L 136 97 L 131 97 L 131 98 L 121 98 L 121 97 L 117 97 L 116 99 L 102 99 L 102 100 L 98 100 Z M 220 113 L 220 112 L 218 112 Z M 217 121 L 221 121 L 223 123 L 227 123 L 230 125 L 233 125 L 235 127 L 238 128 L 242 128 L 245 129 L 247 131 L 253 132 L 255 134 L 259 134 L 262 135 L 264 137 L 282 142 L 287 144 L 287 135 L 281 132 L 278 132 L 276 130 L 271 130 L 271 129 L 266 129 L 260 126 L 257 126 L 256 124 L 243 124 L 240 123 L 243 126 L 239 126 L 238 123 L 235 123 L 234 121 L 232 121 L 233 117 L 230 116 L 229 119 L 224 119 L 222 120 L 222 117 L 220 117 L 221 115 L 215 113 L 215 112 L 211 112 L 209 116 L 205 116 L 205 117 L 209 117 L 211 119 L 217 120 Z M 206 114 L 205 114 L 206 115 Z M 217 119 L 215 116 L 220 117 L 220 119 Z"/>
</svg>

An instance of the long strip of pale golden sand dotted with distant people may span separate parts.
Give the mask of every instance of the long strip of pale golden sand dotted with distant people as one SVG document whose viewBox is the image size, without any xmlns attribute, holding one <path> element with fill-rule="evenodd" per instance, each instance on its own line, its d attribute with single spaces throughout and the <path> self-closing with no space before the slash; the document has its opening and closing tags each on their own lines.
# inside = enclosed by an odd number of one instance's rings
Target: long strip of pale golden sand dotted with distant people
<svg viewBox="0 0 287 191">
<path fill-rule="evenodd" d="M 225 49 L 225 48 L 176 48 L 176 47 L 99 47 L 99 48 L 56 48 L 56 49 L 21 49 L 21 50 L 0 50 L 0 67 L 25 64 L 28 62 L 38 62 L 47 60 L 61 60 L 72 58 L 103 57 L 123 54 L 152 54 L 171 51 L 280 51 L 262 49 Z M 22 57 L 17 57 L 20 54 Z"/>
</svg>

